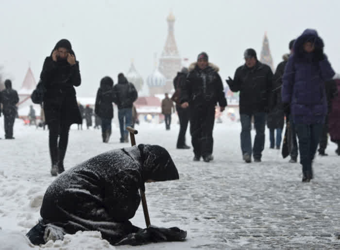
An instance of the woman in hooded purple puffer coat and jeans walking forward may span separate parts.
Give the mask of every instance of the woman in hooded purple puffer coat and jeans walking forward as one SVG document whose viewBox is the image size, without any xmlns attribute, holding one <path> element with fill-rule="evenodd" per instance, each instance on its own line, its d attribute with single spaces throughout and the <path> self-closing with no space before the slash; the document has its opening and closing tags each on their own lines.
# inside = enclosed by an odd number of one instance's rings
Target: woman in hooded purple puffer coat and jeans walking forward
<svg viewBox="0 0 340 250">
<path fill-rule="evenodd" d="M 339 77 L 323 47 L 317 31 L 305 30 L 294 43 L 283 75 L 282 101 L 290 105 L 299 138 L 303 182 L 313 179 L 312 161 L 327 114 L 324 82 Z"/>
</svg>

